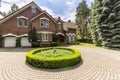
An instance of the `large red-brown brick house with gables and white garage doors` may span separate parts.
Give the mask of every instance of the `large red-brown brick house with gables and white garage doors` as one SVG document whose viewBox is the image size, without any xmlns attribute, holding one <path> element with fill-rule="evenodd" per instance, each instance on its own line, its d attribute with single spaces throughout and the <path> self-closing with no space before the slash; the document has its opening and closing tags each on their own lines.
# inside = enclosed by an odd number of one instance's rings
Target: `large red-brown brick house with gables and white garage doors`
<svg viewBox="0 0 120 80">
<path fill-rule="evenodd" d="M 60 17 L 53 18 L 37 4 L 31 2 L 16 12 L 0 20 L 0 34 L 3 37 L 3 47 L 15 47 L 19 37 L 21 46 L 31 46 L 28 33 L 35 28 L 41 44 L 50 44 L 52 34 L 58 35 L 58 42 L 76 42 L 76 25 L 70 20 L 64 22 Z M 65 33 L 66 32 L 66 33 Z"/>
</svg>

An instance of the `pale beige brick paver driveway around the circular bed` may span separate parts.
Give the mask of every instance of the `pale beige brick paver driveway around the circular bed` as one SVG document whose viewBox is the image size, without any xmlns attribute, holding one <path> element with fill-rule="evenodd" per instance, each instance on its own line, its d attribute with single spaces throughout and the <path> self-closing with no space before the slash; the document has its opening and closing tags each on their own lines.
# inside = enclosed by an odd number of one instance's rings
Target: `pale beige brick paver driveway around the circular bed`
<svg viewBox="0 0 120 80">
<path fill-rule="evenodd" d="M 72 68 L 37 69 L 25 63 L 29 49 L 0 49 L 0 80 L 120 80 L 120 52 L 78 47 L 83 63 Z"/>
</svg>

